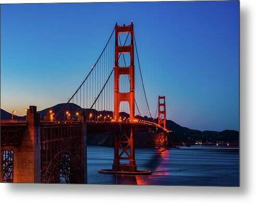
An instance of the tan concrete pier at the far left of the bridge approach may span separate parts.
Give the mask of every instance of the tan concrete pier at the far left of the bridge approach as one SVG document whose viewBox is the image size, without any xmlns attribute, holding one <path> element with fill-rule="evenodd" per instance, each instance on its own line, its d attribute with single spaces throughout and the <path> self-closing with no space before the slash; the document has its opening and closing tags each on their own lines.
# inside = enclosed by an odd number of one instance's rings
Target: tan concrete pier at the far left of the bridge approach
<svg viewBox="0 0 256 203">
<path fill-rule="evenodd" d="M 27 110 L 27 129 L 21 135 L 18 146 L 1 147 L 1 182 L 3 181 L 4 152 L 13 154 L 13 182 L 40 183 L 41 182 L 41 136 L 40 115 L 36 113 L 36 106 Z"/>
</svg>

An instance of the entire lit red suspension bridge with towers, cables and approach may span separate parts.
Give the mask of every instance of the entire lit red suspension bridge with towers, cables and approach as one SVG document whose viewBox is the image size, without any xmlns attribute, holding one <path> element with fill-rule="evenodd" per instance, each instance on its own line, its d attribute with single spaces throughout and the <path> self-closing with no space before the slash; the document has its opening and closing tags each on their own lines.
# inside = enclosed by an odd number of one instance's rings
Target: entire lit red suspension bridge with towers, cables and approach
<svg viewBox="0 0 256 203">
<path fill-rule="evenodd" d="M 144 105 L 139 103 L 143 100 Z M 69 103 L 82 108 L 75 112 L 77 120 L 70 119 Z M 25 121 L 1 120 L 0 181 L 87 183 L 86 136 L 106 132 L 114 138 L 113 164 L 99 172 L 151 175 L 137 169 L 135 134 L 155 132 L 156 147 L 167 146 L 165 96 L 158 97 L 157 111 L 157 122 L 142 119 L 142 112 L 152 115 L 134 25 L 116 23 L 92 69 L 58 112 L 49 110 L 40 120 L 36 107 L 30 106 Z M 120 116 L 121 112 L 127 116 Z"/>
</svg>

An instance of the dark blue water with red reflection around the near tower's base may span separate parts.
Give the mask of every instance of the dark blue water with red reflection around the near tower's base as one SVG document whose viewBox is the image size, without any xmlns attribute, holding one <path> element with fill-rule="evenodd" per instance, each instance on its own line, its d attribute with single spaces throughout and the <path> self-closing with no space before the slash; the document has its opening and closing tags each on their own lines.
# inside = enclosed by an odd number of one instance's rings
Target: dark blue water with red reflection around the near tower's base
<svg viewBox="0 0 256 203">
<path fill-rule="evenodd" d="M 113 148 L 88 146 L 89 184 L 138 185 L 239 185 L 238 149 L 191 146 L 181 149 L 136 149 L 138 169 L 151 170 L 151 176 L 117 176 L 98 173 L 110 169 Z"/>
</svg>

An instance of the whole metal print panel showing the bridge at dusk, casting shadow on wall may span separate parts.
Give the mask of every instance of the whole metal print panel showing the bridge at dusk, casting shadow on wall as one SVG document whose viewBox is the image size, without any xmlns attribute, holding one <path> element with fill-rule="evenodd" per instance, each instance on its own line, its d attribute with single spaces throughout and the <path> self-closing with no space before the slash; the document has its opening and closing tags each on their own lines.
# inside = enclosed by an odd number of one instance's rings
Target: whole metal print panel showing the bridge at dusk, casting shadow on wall
<svg viewBox="0 0 256 203">
<path fill-rule="evenodd" d="M 239 186 L 239 1 L 2 4 L 0 173 Z"/>
</svg>

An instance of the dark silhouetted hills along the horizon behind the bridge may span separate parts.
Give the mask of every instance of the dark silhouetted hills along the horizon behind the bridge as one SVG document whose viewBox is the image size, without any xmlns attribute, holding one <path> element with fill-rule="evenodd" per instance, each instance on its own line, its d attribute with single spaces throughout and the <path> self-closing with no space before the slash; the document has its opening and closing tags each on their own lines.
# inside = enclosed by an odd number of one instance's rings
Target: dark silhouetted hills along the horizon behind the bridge
<svg viewBox="0 0 256 203">
<path fill-rule="evenodd" d="M 46 109 L 43 109 L 41 111 L 37 111 L 40 114 L 41 119 L 44 119 L 44 115 L 46 115 L 46 112 L 49 110 L 53 110 L 53 112 L 57 113 L 60 111 L 66 104 L 57 104 L 53 107 L 49 107 Z M 66 111 L 69 111 L 71 113 L 71 118 L 76 118 L 75 113 L 78 111 L 88 111 L 88 109 L 81 108 L 80 106 L 69 103 L 65 108 L 63 108 L 58 115 L 59 120 L 66 119 Z M 95 109 L 92 109 L 90 112 L 92 112 L 94 115 L 96 114 L 103 114 L 104 115 L 110 115 L 112 116 L 112 111 L 96 111 Z M 125 112 L 120 112 L 121 117 L 129 117 L 129 114 Z M 94 116 L 93 116 L 94 118 Z M 139 117 L 136 116 L 138 119 L 147 119 L 150 121 L 153 121 L 152 118 L 147 117 Z M 11 119 L 11 113 L 1 109 L 1 120 L 9 120 Z M 18 117 L 17 115 L 14 115 L 15 120 L 24 120 L 24 117 Z M 169 130 L 172 130 L 172 138 L 174 142 L 193 142 L 195 140 L 201 140 L 202 142 L 211 141 L 229 141 L 229 142 L 238 142 L 239 141 L 239 132 L 237 130 L 230 130 L 225 129 L 222 132 L 212 131 L 212 130 L 197 130 L 197 129 L 190 129 L 187 127 L 183 127 L 171 120 L 167 120 L 167 128 Z"/>
</svg>

